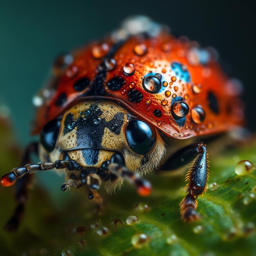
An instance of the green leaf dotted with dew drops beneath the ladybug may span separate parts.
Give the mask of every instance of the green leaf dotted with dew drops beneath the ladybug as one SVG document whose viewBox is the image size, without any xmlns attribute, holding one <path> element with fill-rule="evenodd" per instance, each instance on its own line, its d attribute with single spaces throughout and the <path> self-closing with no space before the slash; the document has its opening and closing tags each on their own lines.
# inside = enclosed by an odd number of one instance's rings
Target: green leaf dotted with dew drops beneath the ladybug
<svg viewBox="0 0 256 256">
<path fill-rule="evenodd" d="M 15 150 L 7 150 L 13 141 L 11 135 L 7 136 L 9 130 L 0 127 L 0 138 L 5 141 L 1 142 L 1 156 L 5 154 L 1 157 L 1 174 L 16 166 L 19 158 Z M 244 176 L 235 173 L 240 160 L 256 163 L 255 152 L 254 141 L 210 158 L 208 191 L 198 198 L 202 219 L 194 223 L 180 220 L 178 205 L 184 197 L 185 170 L 180 175 L 147 175 L 153 184 L 153 193 L 147 198 L 139 197 L 126 183 L 113 195 L 101 189 L 104 209 L 100 210 L 83 193 L 65 193 L 65 199 L 58 198 L 56 204 L 36 180 L 18 232 L 0 230 L 0 252 L 81 256 L 255 255 L 256 171 Z M 63 177 L 59 177 L 56 190 L 62 182 Z M 13 188 L 0 188 L 0 225 L 4 225 L 15 206 L 13 193 Z M 128 225 L 128 216 L 137 216 L 137 221 Z"/>
</svg>

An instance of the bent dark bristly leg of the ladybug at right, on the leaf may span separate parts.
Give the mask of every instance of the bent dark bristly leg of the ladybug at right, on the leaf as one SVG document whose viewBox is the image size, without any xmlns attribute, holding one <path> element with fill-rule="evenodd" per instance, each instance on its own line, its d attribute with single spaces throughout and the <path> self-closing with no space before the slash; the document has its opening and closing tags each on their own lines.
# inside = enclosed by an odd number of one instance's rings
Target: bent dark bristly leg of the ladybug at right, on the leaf
<svg viewBox="0 0 256 256">
<path fill-rule="evenodd" d="M 167 162 L 164 164 L 164 169 L 166 169 L 167 166 L 174 166 L 175 164 L 180 167 L 182 162 L 183 164 L 186 164 L 186 160 L 196 153 L 197 156 L 193 160 L 193 163 L 185 177 L 186 181 L 189 183 L 185 187 L 187 195 L 180 203 L 180 213 L 182 220 L 185 222 L 199 220 L 200 216 L 196 211 L 198 205 L 196 199 L 198 198 L 198 195 L 202 195 L 202 193 L 206 190 L 208 181 L 209 161 L 207 149 L 204 144 L 197 143 L 186 146 L 178 152 L 179 154 L 175 153 L 169 157 Z"/>
</svg>

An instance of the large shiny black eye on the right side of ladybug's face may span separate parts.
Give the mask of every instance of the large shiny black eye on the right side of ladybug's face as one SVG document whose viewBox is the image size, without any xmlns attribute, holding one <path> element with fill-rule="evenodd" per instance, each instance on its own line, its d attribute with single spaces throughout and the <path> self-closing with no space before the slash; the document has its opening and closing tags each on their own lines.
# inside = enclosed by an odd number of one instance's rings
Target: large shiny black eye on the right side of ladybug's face
<svg viewBox="0 0 256 256">
<path fill-rule="evenodd" d="M 155 128 L 144 121 L 132 119 L 126 126 L 126 139 L 132 151 L 139 155 L 145 155 L 153 150 L 157 133 Z"/>
</svg>

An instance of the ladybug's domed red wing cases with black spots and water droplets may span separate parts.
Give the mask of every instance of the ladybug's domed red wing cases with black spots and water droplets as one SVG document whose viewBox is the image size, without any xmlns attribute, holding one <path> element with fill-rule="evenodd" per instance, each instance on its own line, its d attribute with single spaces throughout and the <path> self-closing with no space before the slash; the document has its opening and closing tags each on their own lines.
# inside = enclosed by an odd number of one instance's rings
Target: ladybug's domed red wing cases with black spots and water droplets
<svg viewBox="0 0 256 256">
<path fill-rule="evenodd" d="M 86 97 L 115 100 L 177 139 L 240 126 L 243 103 L 235 86 L 230 88 L 209 52 L 202 63 L 199 51 L 195 42 L 162 33 L 156 38 L 132 36 L 122 44 L 108 38 L 74 52 L 72 64 L 55 83 L 55 93 L 38 108 L 33 134 Z M 75 89 L 80 79 L 88 79 L 88 84 Z M 189 109 L 179 109 L 177 116 L 172 110 L 176 101 Z"/>
</svg>

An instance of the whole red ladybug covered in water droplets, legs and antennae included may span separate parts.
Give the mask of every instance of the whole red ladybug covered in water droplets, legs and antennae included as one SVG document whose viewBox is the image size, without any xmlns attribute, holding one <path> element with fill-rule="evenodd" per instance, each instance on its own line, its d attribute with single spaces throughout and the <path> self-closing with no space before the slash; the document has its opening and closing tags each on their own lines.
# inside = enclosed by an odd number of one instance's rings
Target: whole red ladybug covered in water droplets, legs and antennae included
<svg viewBox="0 0 256 256">
<path fill-rule="evenodd" d="M 147 196 L 151 185 L 139 174 L 192 161 L 180 212 L 184 221 L 198 220 L 196 199 L 209 173 L 202 141 L 243 125 L 239 90 L 216 51 L 135 17 L 107 38 L 60 56 L 52 72 L 33 99 L 32 133 L 40 141 L 27 147 L 22 167 L 1 178 L 3 186 L 18 180 L 18 206 L 7 228 L 18 227 L 28 174 L 36 171 L 58 169 L 66 175 L 63 191 L 83 187 L 89 200 L 101 201 L 102 183 L 111 193 L 127 180 Z M 42 162 L 29 164 L 31 152 Z"/>
</svg>

